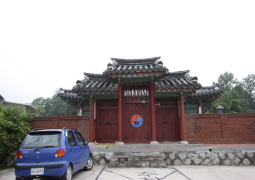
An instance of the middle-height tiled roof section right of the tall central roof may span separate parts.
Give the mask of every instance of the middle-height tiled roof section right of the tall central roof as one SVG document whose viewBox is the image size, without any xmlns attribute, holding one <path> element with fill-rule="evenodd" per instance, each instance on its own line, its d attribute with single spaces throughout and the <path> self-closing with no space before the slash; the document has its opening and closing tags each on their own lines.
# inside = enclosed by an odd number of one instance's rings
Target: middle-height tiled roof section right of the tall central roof
<svg viewBox="0 0 255 180">
<path fill-rule="evenodd" d="M 189 76 L 189 70 L 177 71 L 164 74 L 159 81 L 155 82 L 156 89 L 199 89 L 201 84 L 197 77 Z"/>
</svg>

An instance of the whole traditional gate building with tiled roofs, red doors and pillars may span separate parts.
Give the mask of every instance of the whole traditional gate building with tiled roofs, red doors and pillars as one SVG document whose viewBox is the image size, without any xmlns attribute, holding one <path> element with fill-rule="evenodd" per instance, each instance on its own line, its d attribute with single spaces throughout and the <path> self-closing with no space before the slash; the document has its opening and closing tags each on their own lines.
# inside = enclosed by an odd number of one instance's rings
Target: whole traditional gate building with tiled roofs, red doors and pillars
<svg viewBox="0 0 255 180">
<path fill-rule="evenodd" d="M 102 74 L 84 73 L 58 94 L 90 116 L 90 142 L 185 142 L 184 113 L 202 113 L 223 94 L 189 70 L 169 72 L 160 57 L 111 60 Z"/>
</svg>

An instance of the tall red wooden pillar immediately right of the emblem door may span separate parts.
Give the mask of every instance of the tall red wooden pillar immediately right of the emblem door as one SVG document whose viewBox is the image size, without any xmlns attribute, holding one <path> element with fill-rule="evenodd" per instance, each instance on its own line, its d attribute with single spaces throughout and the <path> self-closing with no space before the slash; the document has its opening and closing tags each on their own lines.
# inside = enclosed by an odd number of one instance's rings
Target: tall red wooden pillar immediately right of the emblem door
<svg viewBox="0 0 255 180">
<path fill-rule="evenodd" d="M 155 109 L 155 96 L 154 96 L 154 82 L 150 84 L 150 103 L 151 103 L 151 144 L 157 144 L 156 132 L 156 109 Z"/>
</svg>

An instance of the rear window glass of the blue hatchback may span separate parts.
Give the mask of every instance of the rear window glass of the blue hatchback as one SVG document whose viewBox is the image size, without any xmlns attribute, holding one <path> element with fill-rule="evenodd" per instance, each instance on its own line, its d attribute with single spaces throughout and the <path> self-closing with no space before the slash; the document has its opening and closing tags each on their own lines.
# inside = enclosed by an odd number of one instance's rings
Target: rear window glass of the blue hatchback
<svg viewBox="0 0 255 180">
<path fill-rule="evenodd" d="M 49 148 L 60 146 L 59 132 L 36 132 L 27 135 L 22 149 Z"/>
</svg>

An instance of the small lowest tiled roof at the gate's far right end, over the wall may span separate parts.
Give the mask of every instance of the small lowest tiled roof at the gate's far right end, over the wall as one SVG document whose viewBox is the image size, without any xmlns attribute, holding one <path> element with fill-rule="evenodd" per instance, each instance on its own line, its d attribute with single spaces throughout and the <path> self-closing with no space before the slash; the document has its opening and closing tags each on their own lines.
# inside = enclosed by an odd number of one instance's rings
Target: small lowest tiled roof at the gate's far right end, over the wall
<svg viewBox="0 0 255 180">
<path fill-rule="evenodd" d="M 219 96 L 222 95 L 223 93 L 224 91 L 216 86 L 205 86 L 197 90 L 196 93 L 193 93 L 192 97 L 198 98 L 204 96 L 217 96 L 217 95 Z"/>
</svg>

